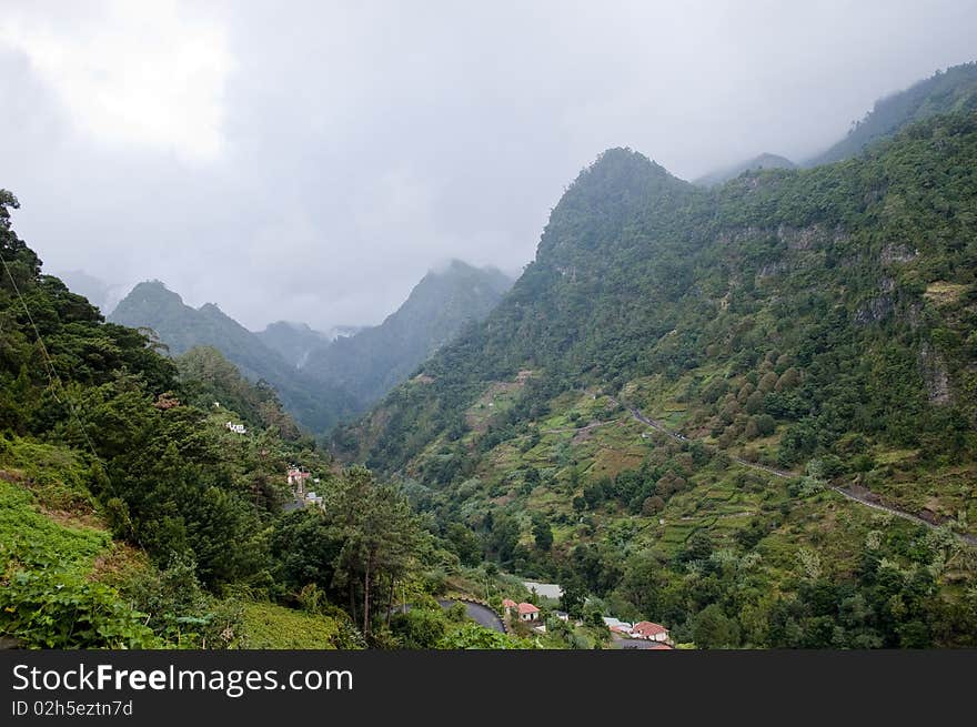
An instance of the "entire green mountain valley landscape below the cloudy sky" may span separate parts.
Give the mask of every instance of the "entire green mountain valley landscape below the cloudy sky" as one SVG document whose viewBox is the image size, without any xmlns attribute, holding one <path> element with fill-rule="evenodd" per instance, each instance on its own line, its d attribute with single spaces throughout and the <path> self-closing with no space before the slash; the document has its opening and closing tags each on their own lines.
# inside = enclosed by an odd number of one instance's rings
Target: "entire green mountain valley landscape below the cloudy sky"
<svg viewBox="0 0 977 727">
<path fill-rule="evenodd" d="M 799 166 L 607 149 L 518 280 L 338 336 L 159 281 L 107 320 L 0 191 L 2 637 L 974 648 L 975 68 Z"/>
</svg>

